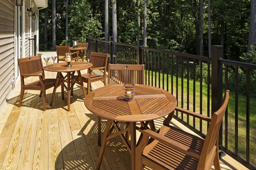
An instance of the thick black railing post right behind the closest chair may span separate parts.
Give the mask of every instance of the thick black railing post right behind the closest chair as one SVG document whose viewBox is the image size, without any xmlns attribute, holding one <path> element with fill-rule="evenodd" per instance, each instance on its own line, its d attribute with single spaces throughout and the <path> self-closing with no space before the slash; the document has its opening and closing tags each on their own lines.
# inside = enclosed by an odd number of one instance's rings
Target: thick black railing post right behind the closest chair
<svg viewBox="0 0 256 170">
<path fill-rule="evenodd" d="M 223 58 L 223 46 L 212 45 L 212 114 L 221 106 L 223 66 L 219 59 Z M 222 124 L 219 132 L 219 145 L 222 145 Z"/>
</svg>

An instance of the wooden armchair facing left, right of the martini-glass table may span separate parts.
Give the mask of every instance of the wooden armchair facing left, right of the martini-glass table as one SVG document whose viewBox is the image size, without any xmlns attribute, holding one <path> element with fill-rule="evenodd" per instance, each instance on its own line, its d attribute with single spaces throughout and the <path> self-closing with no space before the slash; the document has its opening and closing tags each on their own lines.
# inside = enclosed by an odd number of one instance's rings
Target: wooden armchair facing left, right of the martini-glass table
<svg viewBox="0 0 256 170">
<path fill-rule="evenodd" d="M 82 81 L 87 83 L 87 94 L 90 93 L 91 82 L 103 80 L 104 85 L 106 85 L 106 70 L 107 70 L 108 54 L 107 53 L 90 53 L 90 63 L 93 64 L 91 68 L 88 69 L 87 74 L 82 74 Z M 102 70 L 102 74 L 94 74 L 93 71 Z"/>
</svg>

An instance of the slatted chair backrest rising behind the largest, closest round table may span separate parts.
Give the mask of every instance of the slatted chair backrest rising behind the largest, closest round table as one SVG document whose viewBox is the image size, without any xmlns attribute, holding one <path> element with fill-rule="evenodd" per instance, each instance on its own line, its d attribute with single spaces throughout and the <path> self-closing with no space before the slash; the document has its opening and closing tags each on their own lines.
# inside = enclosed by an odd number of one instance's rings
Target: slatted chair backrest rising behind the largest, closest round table
<svg viewBox="0 0 256 170">
<path fill-rule="evenodd" d="M 144 85 L 144 65 L 108 65 L 108 84 L 134 83 Z"/>
</svg>

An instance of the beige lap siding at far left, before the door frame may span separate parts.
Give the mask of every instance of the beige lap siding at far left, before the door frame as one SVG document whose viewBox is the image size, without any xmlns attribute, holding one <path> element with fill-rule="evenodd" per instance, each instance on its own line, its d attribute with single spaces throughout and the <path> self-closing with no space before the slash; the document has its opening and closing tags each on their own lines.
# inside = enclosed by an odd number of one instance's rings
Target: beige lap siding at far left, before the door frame
<svg viewBox="0 0 256 170">
<path fill-rule="evenodd" d="M 14 0 L 0 1 L 0 111 L 14 79 Z"/>
</svg>

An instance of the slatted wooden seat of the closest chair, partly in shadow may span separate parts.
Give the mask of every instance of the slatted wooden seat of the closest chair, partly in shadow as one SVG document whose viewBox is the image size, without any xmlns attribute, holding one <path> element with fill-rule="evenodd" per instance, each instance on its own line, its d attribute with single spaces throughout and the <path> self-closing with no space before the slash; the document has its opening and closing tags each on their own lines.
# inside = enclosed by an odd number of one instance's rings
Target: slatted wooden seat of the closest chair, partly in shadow
<svg viewBox="0 0 256 170">
<path fill-rule="evenodd" d="M 162 126 L 159 133 L 198 152 L 201 152 L 204 144 L 204 139 L 186 133 L 176 127 Z M 151 161 L 159 165 L 160 169 L 165 170 L 196 170 L 199 161 L 199 159 L 188 156 L 157 140 L 145 147 L 142 162 L 147 165 L 147 161 L 143 161 L 144 159 L 151 159 Z"/>
</svg>

